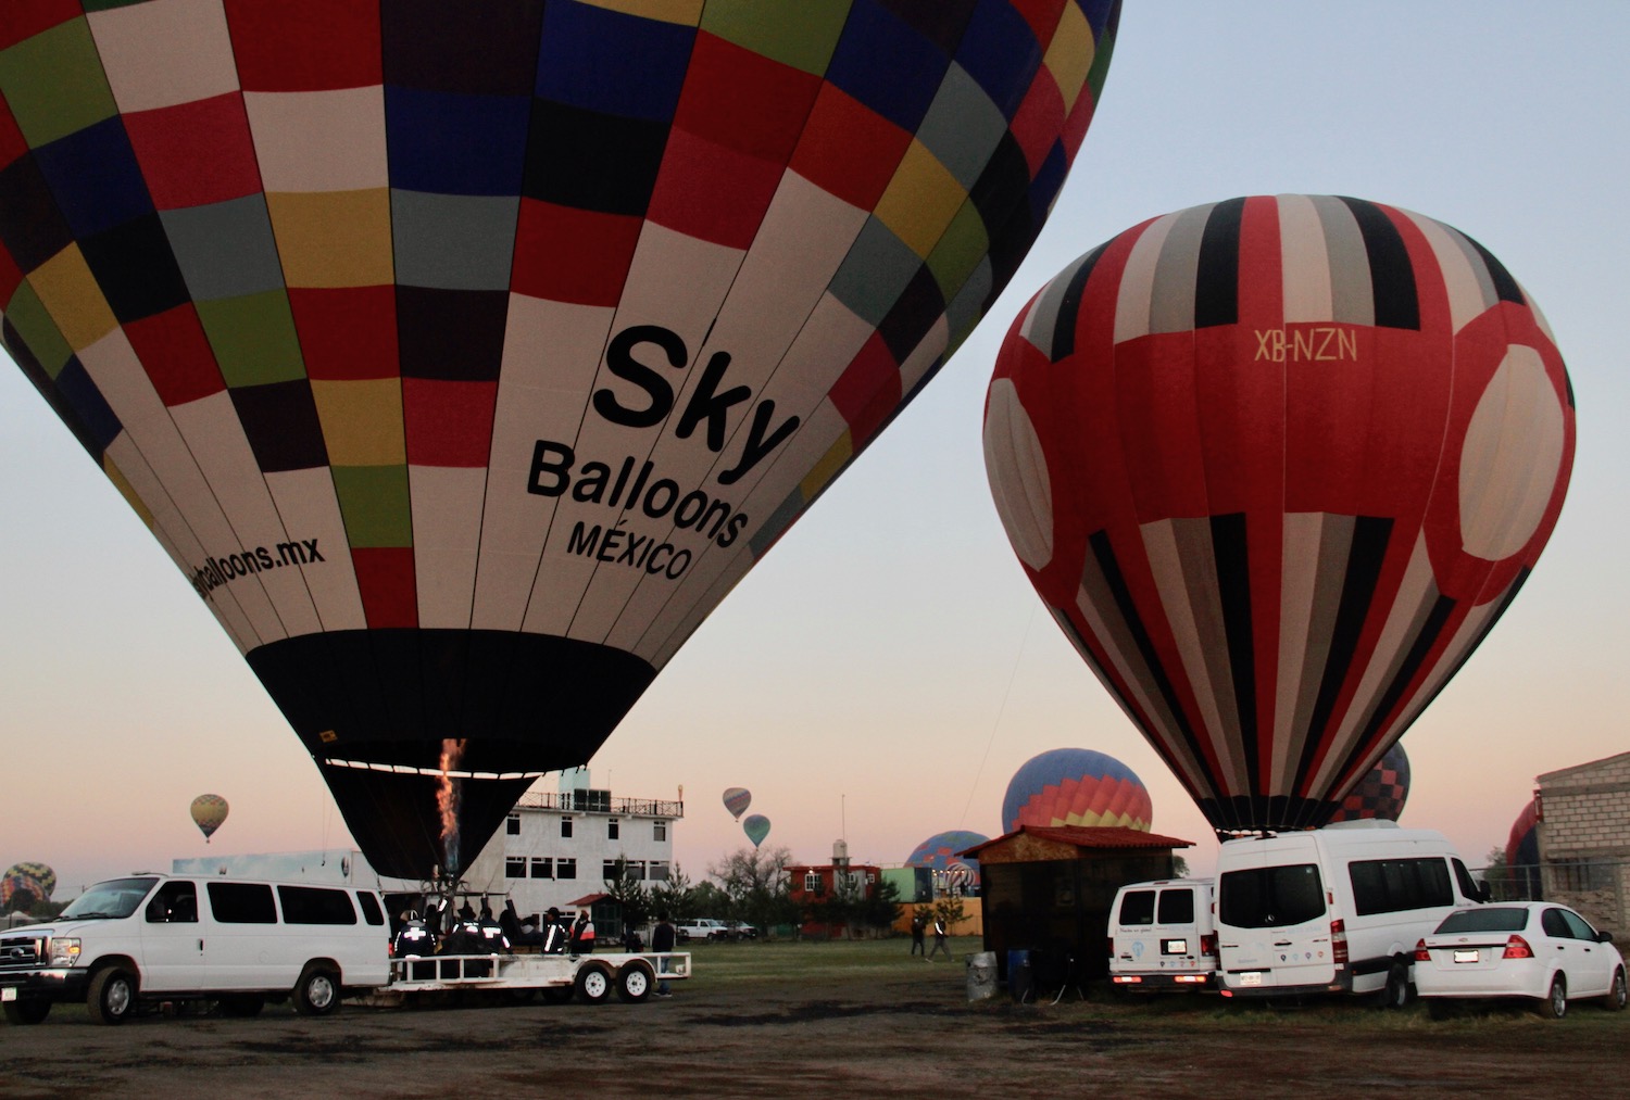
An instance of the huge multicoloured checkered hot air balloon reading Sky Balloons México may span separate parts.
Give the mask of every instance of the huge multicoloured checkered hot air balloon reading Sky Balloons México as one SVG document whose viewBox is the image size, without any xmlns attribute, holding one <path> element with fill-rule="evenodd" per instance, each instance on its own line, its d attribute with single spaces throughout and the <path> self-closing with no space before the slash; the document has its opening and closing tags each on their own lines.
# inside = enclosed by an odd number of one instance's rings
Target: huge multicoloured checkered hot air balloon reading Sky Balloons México
<svg viewBox="0 0 1630 1100">
<path fill-rule="evenodd" d="M 587 763 L 967 337 L 1120 13 L 91 8 L 0 28 L 0 339 L 398 877 Z"/>
</svg>

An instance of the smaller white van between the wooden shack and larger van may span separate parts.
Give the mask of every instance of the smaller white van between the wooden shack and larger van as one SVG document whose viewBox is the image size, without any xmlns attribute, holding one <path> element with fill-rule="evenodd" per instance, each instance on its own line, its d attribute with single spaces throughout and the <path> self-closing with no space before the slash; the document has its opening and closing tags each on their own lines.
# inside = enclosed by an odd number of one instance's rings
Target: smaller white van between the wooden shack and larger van
<svg viewBox="0 0 1630 1100">
<path fill-rule="evenodd" d="M 1110 908 L 1110 983 L 1130 992 L 1214 989 L 1211 878 L 1134 882 Z"/>
</svg>

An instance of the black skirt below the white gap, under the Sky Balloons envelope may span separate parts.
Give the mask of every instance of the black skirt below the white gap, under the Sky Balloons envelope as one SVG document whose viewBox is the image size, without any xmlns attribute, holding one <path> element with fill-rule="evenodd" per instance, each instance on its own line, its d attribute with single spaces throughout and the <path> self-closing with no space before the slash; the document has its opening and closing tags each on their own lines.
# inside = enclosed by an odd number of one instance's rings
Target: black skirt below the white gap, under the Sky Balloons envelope
<svg viewBox="0 0 1630 1100">
<path fill-rule="evenodd" d="M 357 847 L 373 870 L 393 878 L 430 878 L 437 867 L 465 870 L 531 785 L 530 779 L 450 779 L 443 787 L 438 776 L 321 763 L 318 769 Z M 442 836 L 443 790 L 456 797 L 453 843 Z"/>
</svg>

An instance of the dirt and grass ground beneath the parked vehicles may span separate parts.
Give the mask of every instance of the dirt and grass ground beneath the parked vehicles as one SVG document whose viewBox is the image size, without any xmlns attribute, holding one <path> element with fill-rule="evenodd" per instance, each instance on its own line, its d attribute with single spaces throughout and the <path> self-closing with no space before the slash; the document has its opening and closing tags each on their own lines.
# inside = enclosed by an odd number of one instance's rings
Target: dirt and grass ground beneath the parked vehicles
<svg viewBox="0 0 1630 1100">
<path fill-rule="evenodd" d="M 37 1027 L 0 1025 L 0 1097 L 1630 1097 L 1630 1014 L 1594 1004 L 1560 1022 L 1434 1022 L 1100 986 L 1056 1005 L 970 1002 L 960 952 L 923 965 L 887 944 L 830 968 L 789 953 L 797 978 L 778 979 L 776 950 L 703 947 L 696 976 L 645 1004 L 347 1004 L 324 1019 L 269 1005 L 253 1020 L 189 1007 L 111 1028 L 59 1005 Z"/>
</svg>

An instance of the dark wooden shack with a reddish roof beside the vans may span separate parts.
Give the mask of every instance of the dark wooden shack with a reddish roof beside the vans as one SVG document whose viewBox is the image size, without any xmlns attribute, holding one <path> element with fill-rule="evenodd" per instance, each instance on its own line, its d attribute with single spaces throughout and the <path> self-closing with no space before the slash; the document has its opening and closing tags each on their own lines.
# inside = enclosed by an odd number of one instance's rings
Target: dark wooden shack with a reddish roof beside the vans
<svg viewBox="0 0 1630 1100">
<path fill-rule="evenodd" d="M 967 849 L 980 860 L 985 950 L 1007 979 L 1011 950 L 1035 952 L 1073 979 L 1108 975 L 1110 906 L 1128 882 L 1172 877 L 1193 841 L 1130 828 L 1020 826 Z"/>
</svg>

